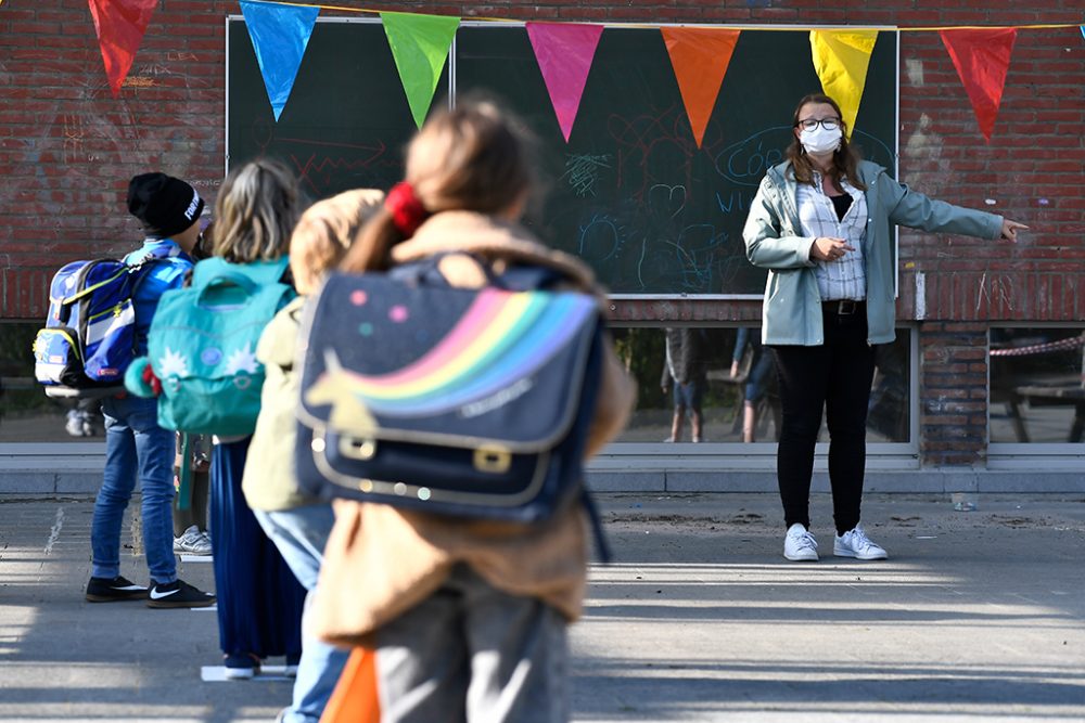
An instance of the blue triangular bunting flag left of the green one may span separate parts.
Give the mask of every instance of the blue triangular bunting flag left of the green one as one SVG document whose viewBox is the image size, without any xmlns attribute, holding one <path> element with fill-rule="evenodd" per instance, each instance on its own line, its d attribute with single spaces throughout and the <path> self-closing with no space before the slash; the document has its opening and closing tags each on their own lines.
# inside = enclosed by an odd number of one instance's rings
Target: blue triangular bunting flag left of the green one
<svg viewBox="0 0 1085 723">
<path fill-rule="evenodd" d="M 279 122 L 320 9 L 242 0 L 241 13 L 245 16 L 276 122 Z"/>
</svg>

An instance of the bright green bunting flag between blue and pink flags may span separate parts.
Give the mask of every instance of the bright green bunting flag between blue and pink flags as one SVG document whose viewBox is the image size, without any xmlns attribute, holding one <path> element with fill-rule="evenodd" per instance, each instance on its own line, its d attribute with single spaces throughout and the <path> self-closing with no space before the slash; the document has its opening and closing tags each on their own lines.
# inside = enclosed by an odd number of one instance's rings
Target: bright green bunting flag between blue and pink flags
<svg viewBox="0 0 1085 723">
<path fill-rule="evenodd" d="M 433 94 L 437 91 L 441 70 L 445 67 L 448 49 L 452 46 L 459 17 L 420 15 L 413 13 L 381 13 L 384 33 L 388 36 L 392 56 L 399 70 L 399 80 L 407 92 L 414 125 L 425 122 Z"/>
</svg>

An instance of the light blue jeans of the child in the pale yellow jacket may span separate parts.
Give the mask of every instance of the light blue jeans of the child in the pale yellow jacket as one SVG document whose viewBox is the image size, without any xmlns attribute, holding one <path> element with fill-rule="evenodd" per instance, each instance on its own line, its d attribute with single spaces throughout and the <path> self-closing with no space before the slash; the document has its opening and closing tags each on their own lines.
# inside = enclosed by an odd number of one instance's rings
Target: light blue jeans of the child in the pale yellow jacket
<svg viewBox="0 0 1085 723">
<path fill-rule="evenodd" d="M 335 522 L 331 505 L 315 504 L 280 512 L 254 509 L 253 513 L 279 548 L 286 565 L 294 571 L 294 577 L 311 593 L 317 586 L 328 534 Z M 349 650 L 306 634 L 308 596 L 305 602 L 305 614 L 302 617 L 302 660 L 294 681 L 294 699 L 282 714 L 284 723 L 317 723 L 320 720 L 350 655 Z"/>
</svg>

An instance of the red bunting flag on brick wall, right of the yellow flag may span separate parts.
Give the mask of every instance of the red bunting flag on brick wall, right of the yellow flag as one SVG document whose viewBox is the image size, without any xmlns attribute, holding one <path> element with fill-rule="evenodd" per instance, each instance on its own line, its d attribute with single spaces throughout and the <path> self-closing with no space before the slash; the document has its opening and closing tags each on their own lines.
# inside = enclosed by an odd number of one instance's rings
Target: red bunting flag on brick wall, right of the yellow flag
<svg viewBox="0 0 1085 723">
<path fill-rule="evenodd" d="M 1017 28 L 940 30 L 939 35 L 972 101 L 980 132 L 990 143 L 1003 102 Z"/>
</svg>

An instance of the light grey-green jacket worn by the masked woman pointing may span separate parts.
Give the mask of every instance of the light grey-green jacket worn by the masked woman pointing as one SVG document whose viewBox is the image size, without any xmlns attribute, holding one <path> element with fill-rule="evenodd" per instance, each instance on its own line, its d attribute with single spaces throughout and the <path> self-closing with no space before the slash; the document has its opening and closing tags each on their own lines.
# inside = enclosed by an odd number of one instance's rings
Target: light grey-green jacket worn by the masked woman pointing
<svg viewBox="0 0 1085 723">
<path fill-rule="evenodd" d="M 742 236 L 746 258 L 768 269 L 762 323 L 764 344 L 818 346 L 825 343 L 821 297 L 809 251 L 814 238 L 801 236 L 797 186 L 791 164 L 768 170 L 746 217 Z M 877 164 L 860 160 L 858 176 L 867 186 L 867 234 L 863 260 L 867 275 L 867 341 L 895 338 L 894 254 L 891 224 L 935 233 L 998 238 L 1003 217 L 928 198 L 910 191 Z"/>
</svg>

